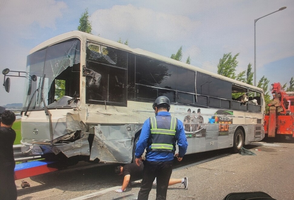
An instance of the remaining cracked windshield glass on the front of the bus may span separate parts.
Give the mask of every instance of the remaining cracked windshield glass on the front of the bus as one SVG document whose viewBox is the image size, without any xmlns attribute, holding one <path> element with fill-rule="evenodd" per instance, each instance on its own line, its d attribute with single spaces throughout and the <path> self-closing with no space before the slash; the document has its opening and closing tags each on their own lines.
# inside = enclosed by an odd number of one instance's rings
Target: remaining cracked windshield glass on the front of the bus
<svg viewBox="0 0 294 200">
<path fill-rule="evenodd" d="M 52 92 L 49 91 L 55 78 L 68 67 L 80 63 L 80 44 L 80 40 L 75 38 L 28 55 L 26 69 L 28 81 L 25 82 L 23 109 L 27 108 L 31 100 L 29 110 L 43 108 L 41 92 L 44 95 L 45 104 L 49 104 L 48 100 L 52 98 L 50 96 Z M 32 75 L 37 76 L 37 81 L 30 80 Z M 41 88 L 43 89 L 41 90 Z M 36 90 L 37 92 L 33 96 Z"/>
</svg>

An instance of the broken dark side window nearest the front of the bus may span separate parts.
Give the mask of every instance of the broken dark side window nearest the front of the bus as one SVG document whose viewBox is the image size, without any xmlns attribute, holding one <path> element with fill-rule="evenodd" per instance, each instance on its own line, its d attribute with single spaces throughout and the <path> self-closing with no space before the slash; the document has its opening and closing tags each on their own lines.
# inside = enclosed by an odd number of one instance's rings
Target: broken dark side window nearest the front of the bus
<svg viewBox="0 0 294 200">
<path fill-rule="evenodd" d="M 87 43 L 86 103 L 126 105 L 127 52 Z"/>
</svg>

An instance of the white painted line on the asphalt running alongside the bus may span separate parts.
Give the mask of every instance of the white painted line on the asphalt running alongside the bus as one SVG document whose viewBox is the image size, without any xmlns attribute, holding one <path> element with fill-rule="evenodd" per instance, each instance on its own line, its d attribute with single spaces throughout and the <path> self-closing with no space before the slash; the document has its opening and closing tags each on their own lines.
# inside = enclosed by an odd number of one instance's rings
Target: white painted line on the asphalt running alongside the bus
<svg viewBox="0 0 294 200">
<path fill-rule="evenodd" d="M 215 159 L 218 159 L 218 158 L 221 158 L 221 157 L 224 157 L 224 156 L 227 156 L 229 154 L 221 154 L 221 155 L 217 155 L 217 156 L 214 156 L 212 158 L 207 158 L 205 160 L 201 160 L 199 162 L 195 162 L 195 163 L 192 163 L 192 164 L 189 164 L 189 165 L 185 165 L 185 166 L 182 166 L 182 167 L 179 167 L 179 168 L 175 168 L 173 169 L 172 171 L 175 172 L 175 171 L 178 171 L 178 170 L 181 170 L 181 169 L 184 169 L 184 168 L 188 168 L 188 167 L 192 167 L 194 165 L 199 165 L 199 164 L 202 164 L 202 163 L 205 163 L 205 162 L 209 162 L 209 161 L 212 161 L 212 160 L 215 160 Z M 141 183 L 142 179 L 140 180 L 137 180 L 137 181 L 133 181 L 131 182 L 132 185 L 134 184 L 137 184 L 137 183 Z M 95 196 L 98 196 L 98 195 L 102 195 L 102 194 L 105 194 L 107 192 L 110 192 L 110 191 L 114 191 L 116 189 L 120 189 L 122 188 L 122 186 L 115 186 L 115 187 L 111 187 L 111 188 L 107 188 L 107 189 L 104 189 L 104 190 L 100 190 L 98 192 L 94 192 L 94 193 L 91 193 L 91 194 L 88 194 L 88 195 L 84 195 L 84 196 L 80 196 L 80 197 L 77 197 L 77 198 L 73 198 L 73 199 L 70 199 L 70 200 L 84 200 L 84 199 L 87 199 L 87 198 L 92 198 L 92 197 L 95 197 Z M 133 195 L 133 194 L 132 194 Z M 131 196 L 132 196 L 131 195 Z M 130 197 L 130 194 L 128 195 L 124 195 L 122 197 L 119 197 L 117 199 L 123 199 L 125 197 Z"/>
</svg>

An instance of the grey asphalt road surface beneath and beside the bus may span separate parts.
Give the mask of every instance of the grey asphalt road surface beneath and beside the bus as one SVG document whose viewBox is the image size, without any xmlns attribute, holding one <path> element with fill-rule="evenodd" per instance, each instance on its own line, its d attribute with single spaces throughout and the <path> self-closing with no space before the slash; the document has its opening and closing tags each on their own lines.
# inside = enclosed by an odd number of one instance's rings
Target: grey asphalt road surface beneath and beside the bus
<svg viewBox="0 0 294 200">
<path fill-rule="evenodd" d="M 188 177 L 188 190 L 181 184 L 169 186 L 167 199 L 222 200 L 231 192 L 252 191 L 266 192 L 277 200 L 294 199 L 294 143 L 256 142 L 245 148 L 256 155 L 231 154 L 226 149 L 185 155 L 182 162 L 175 161 L 172 178 Z M 218 158 L 213 159 L 215 156 Z M 115 166 L 80 162 L 66 170 L 23 179 L 30 183 L 29 188 L 21 188 L 22 180 L 17 180 L 18 199 L 136 199 L 139 183 L 125 192 L 114 192 L 123 180 L 114 175 Z M 149 199 L 155 195 L 153 187 Z"/>
</svg>

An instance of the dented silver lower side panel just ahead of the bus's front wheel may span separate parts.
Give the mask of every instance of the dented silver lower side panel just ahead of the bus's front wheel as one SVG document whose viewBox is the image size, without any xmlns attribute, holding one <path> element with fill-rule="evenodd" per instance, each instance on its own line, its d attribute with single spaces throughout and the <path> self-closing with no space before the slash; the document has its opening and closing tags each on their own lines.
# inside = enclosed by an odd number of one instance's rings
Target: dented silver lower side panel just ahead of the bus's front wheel
<svg viewBox="0 0 294 200">
<path fill-rule="evenodd" d="M 100 162 L 130 163 L 132 161 L 133 140 L 142 125 L 94 126 L 95 135 L 90 160 Z"/>
</svg>

